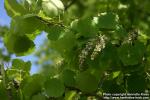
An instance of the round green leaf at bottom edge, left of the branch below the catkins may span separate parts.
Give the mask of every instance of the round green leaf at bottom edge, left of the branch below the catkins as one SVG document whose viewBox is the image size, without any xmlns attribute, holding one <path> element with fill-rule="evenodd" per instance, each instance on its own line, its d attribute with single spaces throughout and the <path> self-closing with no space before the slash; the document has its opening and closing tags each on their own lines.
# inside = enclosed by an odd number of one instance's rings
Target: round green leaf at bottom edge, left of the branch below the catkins
<svg viewBox="0 0 150 100">
<path fill-rule="evenodd" d="M 49 97 L 60 97 L 65 91 L 64 84 L 56 78 L 48 79 L 44 84 L 44 88 Z"/>
</svg>

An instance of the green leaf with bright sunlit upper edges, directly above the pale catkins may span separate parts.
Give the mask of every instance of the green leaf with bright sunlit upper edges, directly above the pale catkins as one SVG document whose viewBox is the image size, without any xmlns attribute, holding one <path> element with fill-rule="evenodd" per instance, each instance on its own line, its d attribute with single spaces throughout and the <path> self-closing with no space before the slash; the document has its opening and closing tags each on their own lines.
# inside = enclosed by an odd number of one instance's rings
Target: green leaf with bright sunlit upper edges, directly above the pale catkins
<svg viewBox="0 0 150 100">
<path fill-rule="evenodd" d="M 114 13 L 106 13 L 99 16 L 98 27 L 100 30 L 114 30 L 118 23 L 118 17 Z"/>
</svg>

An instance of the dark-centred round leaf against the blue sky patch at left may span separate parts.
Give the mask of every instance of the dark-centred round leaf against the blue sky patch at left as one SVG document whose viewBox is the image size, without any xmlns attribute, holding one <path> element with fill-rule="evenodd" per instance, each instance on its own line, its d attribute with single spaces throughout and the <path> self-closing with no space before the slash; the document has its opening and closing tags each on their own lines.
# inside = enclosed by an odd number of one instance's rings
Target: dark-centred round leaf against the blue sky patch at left
<svg viewBox="0 0 150 100">
<path fill-rule="evenodd" d="M 29 52 L 34 47 L 33 41 L 31 41 L 27 36 L 18 36 L 14 34 L 8 34 L 5 36 L 5 46 L 8 51 L 16 53 L 18 55 L 24 55 L 24 53 Z"/>
</svg>

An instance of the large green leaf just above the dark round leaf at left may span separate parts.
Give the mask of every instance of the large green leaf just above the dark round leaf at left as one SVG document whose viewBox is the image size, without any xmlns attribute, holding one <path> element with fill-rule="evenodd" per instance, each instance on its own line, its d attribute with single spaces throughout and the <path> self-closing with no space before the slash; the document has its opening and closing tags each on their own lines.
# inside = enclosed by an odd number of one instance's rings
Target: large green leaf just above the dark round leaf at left
<svg viewBox="0 0 150 100">
<path fill-rule="evenodd" d="M 11 30 L 16 34 L 36 34 L 43 30 L 44 23 L 35 14 L 15 17 L 11 22 Z"/>
</svg>

